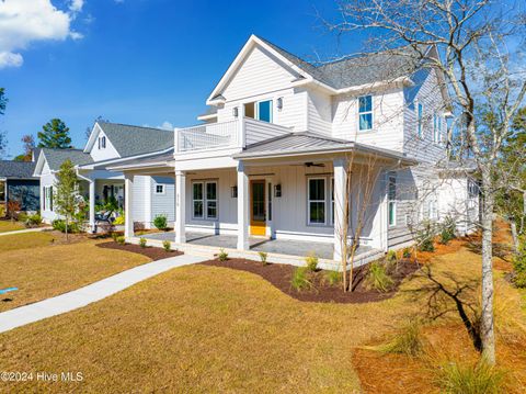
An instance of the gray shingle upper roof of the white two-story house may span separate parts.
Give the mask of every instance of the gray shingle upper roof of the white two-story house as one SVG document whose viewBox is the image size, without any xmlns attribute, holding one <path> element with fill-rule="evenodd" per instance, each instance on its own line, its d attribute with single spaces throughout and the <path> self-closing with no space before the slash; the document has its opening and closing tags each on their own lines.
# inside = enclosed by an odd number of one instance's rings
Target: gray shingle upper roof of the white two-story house
<svg viewBox="0 0 526 394">
<path fill-rule="evenodd" d="M 315 66 L 264 38 L 259 38 L 268 44 L 287 60 L 334 89 L 410 76 L 420 65 L 418 52 L 407 46 Z"/>
</svg>

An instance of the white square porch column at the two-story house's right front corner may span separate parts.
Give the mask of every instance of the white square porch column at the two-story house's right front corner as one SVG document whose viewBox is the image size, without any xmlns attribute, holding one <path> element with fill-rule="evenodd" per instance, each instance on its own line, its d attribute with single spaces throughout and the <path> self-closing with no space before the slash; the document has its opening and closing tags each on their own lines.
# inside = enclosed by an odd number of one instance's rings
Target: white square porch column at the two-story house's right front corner
<svg viewBox="0 0 526 394">
<path fill-rule="evenodd" d="M 334 256 L 335 261 L 341 261 L 342 249 L 346 239 L 343 239 L 345 226 L 345 193 L 347 183 L 346 160 L 343 158 L 334 159 Z"/>
</svg>

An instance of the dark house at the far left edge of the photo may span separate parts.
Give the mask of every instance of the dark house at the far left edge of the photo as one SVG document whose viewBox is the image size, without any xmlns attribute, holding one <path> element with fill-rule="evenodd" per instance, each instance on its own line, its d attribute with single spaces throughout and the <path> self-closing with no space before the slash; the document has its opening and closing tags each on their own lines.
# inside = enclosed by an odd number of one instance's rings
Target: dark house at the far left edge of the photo
<svg viewBox="0 0 526 394">
<path fill-rule="evenodd" d="M 33 176 L 35 161 L 0 160 L 0 217 L 9 202 L 18 202 L 21 211 L 39 209 L 38 178 Z"/>
</svg>

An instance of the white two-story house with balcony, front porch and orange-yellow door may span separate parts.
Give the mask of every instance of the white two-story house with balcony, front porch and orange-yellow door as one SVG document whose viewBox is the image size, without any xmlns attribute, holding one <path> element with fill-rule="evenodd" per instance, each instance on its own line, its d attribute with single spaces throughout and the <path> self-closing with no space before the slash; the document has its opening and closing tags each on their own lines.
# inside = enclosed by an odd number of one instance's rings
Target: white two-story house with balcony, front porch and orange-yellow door
<svg viewBox="0 0 526 394">
<path fill-rule="evenodd" d="M 110 166 L 129 188 L 174 177 L 178 244 L 205 233 L 249 250 L 263 237 L 323 244 L 339 260 L 346 225 L 352 235 L 362 222 L 361 246 L 384 252 L 411 243 L 416 219 L 466 214 L 469 177 L 441 170 L 443 77 L 410 48 L 313 66 L 252 35 L 206 103 L 201 125 L 174 131 L 173 153 Z M 144 204 L 126 202 L 126 215 Z"/>
</svg>

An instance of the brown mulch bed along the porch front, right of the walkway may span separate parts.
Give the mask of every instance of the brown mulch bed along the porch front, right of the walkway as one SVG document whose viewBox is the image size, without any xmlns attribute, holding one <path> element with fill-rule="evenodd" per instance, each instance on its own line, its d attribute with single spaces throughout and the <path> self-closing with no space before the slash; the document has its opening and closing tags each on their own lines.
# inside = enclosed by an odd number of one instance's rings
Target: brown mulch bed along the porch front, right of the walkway
<svg viewBox="0 0 526 394">
<path fill-rule="evenodd" d="M 202 262 L 205 266 L 225 267 L 240 271 L 248 271 L 255 273 L 264 280 L 272 283 L 285 294 L 299 301 L 321 302 L 321 303 L 341 303 L 341 304 L 362 304 L 375 301 L 381 301 L 392 297 L 402 282 L 402 280 L 413 272 L 419 266 L 410 260 L 401 260 L 398 264 L 397 271 L 391 274 L 395 285 L 390 292 L 380 293 L 374 289 L 367 289 L 364 277 L 368 270 L 368 264 L 362 266 L 354 270 L 354 291 L 344 293 L 341 285 L 330 285 L 325 282 L 324 275 L 327 271 L 319 270 L 312 273 L 311 290 L 297 291 L 290 286 L 290 279 L 296 267 L 288 264 L 272 264 L 264 266 L 259 261 L 247 259 L 228 259 L 227 261 L 208 260 Z"/>
</svg>

